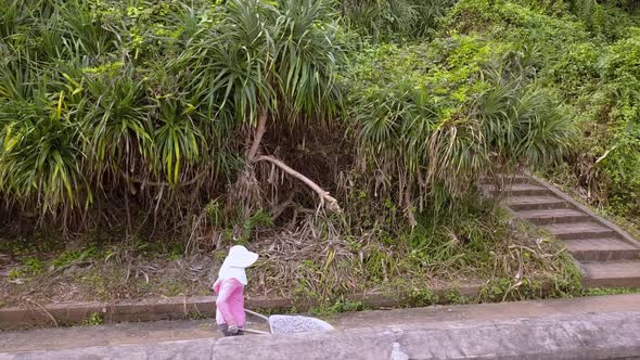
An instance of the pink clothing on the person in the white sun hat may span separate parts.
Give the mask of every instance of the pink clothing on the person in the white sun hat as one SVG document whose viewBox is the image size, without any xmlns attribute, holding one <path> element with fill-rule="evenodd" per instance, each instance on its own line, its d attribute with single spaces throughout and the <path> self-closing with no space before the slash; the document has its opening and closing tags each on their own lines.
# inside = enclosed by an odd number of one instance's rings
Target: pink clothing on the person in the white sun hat
<svg viewBox="0 0 640 360">
<path fill-rule="evenodd" d="M 244 285 L 236 279 L 216 280 L 213 285 L 216 298 L 216 323 L 244 326 Z"/>
</svg>

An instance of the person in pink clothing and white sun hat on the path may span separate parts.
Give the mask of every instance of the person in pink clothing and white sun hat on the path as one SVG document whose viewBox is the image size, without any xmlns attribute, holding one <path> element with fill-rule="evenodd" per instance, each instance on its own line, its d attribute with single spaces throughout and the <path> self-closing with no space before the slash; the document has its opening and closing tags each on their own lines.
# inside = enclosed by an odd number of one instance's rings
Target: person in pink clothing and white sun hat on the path
<svg viewBox="0 0 640 360">
<path fill-rule="evenodd" d="M 218 295 L 216 299 L 216 323 L 225 336 L 242 335 L 245 323 L 244 286 L 247 284 L 245 268 L 258 259 L 258 254 L 235 245 L 222 262 L 218 280 L 212 288 Z"/>
</svg>

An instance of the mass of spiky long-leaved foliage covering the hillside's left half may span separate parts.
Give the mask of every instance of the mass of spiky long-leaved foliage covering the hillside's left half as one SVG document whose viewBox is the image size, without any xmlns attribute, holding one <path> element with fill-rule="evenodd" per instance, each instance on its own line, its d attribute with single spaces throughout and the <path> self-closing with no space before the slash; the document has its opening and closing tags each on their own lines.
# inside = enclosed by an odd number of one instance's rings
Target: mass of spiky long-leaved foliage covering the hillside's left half
<svg viewBox="0 0 640 360">
<path fill-rule="evenodd" d="M 338 107 L 324 1 L 1 3 L 0 190 L 43 213 L 123 196 L 179 211 L 223 189 L 259 114 Z"/>
</svg>

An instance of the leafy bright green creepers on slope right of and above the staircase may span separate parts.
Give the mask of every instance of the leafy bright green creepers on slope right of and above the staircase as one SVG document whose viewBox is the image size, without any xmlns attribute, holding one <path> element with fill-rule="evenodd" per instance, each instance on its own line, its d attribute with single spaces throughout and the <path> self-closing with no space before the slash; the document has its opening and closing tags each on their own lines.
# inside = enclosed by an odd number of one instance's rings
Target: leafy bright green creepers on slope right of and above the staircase
<svg viewBox="0 0 640 360">
<path fill-rule="evenodd" d="M 482 34 L 529 49 L 537 82 L 555 93 L 560 110 L 579 131 L 551 176 L 580 189 L 587 201 L 638 219 L 638 5 L 616 1 L 547 5 L 545 1 L 461 1 L 449 15 L 447 31 Z"/>
</svg>

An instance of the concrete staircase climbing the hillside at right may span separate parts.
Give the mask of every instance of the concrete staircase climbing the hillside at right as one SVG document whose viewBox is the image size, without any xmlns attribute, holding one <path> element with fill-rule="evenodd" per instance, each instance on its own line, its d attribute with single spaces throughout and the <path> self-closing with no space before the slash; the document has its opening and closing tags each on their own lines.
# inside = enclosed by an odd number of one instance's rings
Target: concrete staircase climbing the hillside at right
<svg viewBox="0 0 640 360">
<path fill-rule="evenodd" d="M 587 287 L 640 287 L 640 243 L 545 181 L 516 175 L 482 181 L 513 214 L 562 240 Z"/>
</svg>

